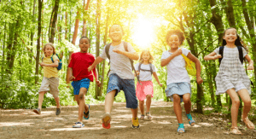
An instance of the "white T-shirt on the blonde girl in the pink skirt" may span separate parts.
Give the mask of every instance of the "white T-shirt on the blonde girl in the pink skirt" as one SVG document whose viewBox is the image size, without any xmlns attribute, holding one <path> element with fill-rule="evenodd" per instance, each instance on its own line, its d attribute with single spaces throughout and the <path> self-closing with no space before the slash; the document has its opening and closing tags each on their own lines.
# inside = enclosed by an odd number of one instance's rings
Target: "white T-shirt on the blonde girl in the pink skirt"
<svg viewBox="0 0 256 139">
<path fill-rule="evenodd" d="M 138 71 L 138 67 L 139 67 L 140 63 L 137 63 L 135 65 L 135 70 Z M 148 65 L 144 65 L 142 64 L 141 65 L 141 69 L 144 69 L 144 70 L 149 70 L 150 71 L 150 67 L 149 67 L 149 64 Z M 141 81 L 151 81 L 152 80 L 152 75 L 151 75 L 151 72 L 149 71 L 138 71 L 140 72 L 139 76 L 140 76 L 140 80 Z M 152 71 L 155 72 L 155 67 L 154 65 L 152 64 Z"/>
</svg>

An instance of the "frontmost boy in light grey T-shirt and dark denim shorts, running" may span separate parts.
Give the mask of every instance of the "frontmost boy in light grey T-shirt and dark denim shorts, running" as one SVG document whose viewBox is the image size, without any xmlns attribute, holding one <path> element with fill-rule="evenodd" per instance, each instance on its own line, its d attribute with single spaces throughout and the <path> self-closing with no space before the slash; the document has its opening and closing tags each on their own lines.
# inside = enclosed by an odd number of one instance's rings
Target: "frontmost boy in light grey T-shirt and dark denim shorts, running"
<svg viewBox="0 0 256 139">
<path fill-rule="evenodd" d="M 105 114 L 102 117 L 103 128 L 110 128 L 111 108 L 113 106 L 113 98 L 117 96 L 120 90 L 125 92 L 126 107 L 131 108 L 132 113 L 132 127 L 138 128 L 139 123 L 137 119 L 137 97 L 134 84 L 134 76 L 131 70 L 131 60 L 138 60 L 139 56 L 132 48 L 130 43 L 122 41 L 125 35 L 123 28 L 120 25 L 114 24 L 109 28 L 108 37 L 111 38 L 112 43 L 109 48 L 107 45 L 102 51 L 102 54 L 96 58 L 96 61 L 88 68 L 90 71 L 96 67 L 101 61 L 110 55 L 110 72 L 108 90 L 105 98 Z M 126 48 L 126 49 L 125 49 Z"/>
</svg>

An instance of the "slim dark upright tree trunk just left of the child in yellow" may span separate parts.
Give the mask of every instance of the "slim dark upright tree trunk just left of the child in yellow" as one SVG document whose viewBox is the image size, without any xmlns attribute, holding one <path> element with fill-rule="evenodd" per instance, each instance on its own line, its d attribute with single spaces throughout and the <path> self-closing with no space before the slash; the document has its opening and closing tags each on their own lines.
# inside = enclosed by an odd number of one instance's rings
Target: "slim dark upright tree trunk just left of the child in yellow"
<svg viewBox="0 0 256 139">
<path fill-rule="evenodd" d="M 40 56 L 40 35 L 41 35 L 41 14 L 42 14 L 43 0 L 38 0 L 38 45 L 37 45 L 37 59 L 36 59 L 36 78 L 35 84 L 38 84 L 39 73 L 39 56 Z"/>
</svg>

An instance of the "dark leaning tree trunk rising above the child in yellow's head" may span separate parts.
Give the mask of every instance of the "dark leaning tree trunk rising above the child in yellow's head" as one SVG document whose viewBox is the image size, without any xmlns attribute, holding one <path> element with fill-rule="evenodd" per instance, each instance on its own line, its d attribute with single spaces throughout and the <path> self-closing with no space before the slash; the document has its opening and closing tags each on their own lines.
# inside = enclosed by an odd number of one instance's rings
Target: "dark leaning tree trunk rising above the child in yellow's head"
<svg viewBox="0 0 256 139">
<path fill-rule="evenodd" d="M 53 20 L 52 20 L 52 26 L 49 26 L 49 28 L 51 29 L 50 35 L 49 35 L 49 43 L 55 43 L 55 25 L 56 25 L 56 20 L 58 17 L 58 9 L 59 9 L 59 3 L 60 0 L 55 0 L 55 7 L 53 9 Z M 50 19 L 51 22 L 51 19 Z"/>
</svg>

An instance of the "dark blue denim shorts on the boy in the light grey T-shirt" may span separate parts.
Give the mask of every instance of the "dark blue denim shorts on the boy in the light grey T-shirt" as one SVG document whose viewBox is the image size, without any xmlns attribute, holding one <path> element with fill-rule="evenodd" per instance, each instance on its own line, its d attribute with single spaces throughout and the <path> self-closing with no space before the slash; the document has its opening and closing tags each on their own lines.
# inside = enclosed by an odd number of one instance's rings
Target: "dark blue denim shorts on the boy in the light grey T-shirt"
<svg viewBox="0 0 256 139">
<path fill-rule="evenodd" d="M 111 92 L 112 90 L 117 90 L 115 96 L 118 95 L 120 90 L 123 90 L 125 92 L 126 107 L 133 109 L 137 108 L 134 79 L 119 78 L 117 74 L 112 73 L 109 75 L 107 93 Z"/>
</svg>

